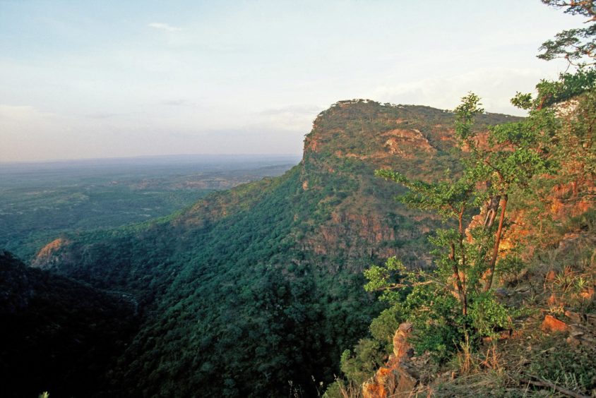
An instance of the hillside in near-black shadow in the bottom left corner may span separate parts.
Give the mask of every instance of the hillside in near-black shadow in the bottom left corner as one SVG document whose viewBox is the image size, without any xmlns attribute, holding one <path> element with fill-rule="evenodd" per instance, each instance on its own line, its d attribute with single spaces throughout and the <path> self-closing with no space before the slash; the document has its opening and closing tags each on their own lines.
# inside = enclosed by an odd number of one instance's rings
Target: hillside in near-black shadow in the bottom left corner
<svg viewBox="0 0 596 398">
<path fill-rule="evenodd" d="M 2 397 L 86 397 L 138 330 L 138 304 L 0 250 L 0 323 Z"/>
</svg>

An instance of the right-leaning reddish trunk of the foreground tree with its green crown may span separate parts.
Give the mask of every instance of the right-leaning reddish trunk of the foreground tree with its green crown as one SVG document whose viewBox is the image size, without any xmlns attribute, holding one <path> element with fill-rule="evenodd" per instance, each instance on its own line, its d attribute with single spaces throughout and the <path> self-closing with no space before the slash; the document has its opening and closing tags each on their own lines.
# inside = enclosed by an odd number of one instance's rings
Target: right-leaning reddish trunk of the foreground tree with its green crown
<svg viewBox="0 0 596 398">
<path fill-rule="evenodd" d="M 515 99 L 513 100 L 515 103 Z M 482 231 L 488 236 L 475 234 L 479 255 L 477 261 L 483 270 L 484 291 L 489 291 L 494 279 L 496 262 L 499 258 L 499 247 L 503 236 L 503 226 L 506 220 L 506 210 L 511 193 L 528 188 L 535 176 L 554 171 L 556 162 L 549 154 L 549 142 L 555 135 L 557 123 L 553 109 L 536 106 L 523 121 L 504 123 L 489 129 L 486 140 L 467 127 L 470 109 L 478 108 L 478 98 L 469 95 L 463 104 L 455 110 L 458 112 L 458 126 L 456 134 L 460 147 L 469 150 L 465 156 L 465 174 L 469 174 L 476 183 L 484 184 L 477 198 L 486 200 L 484 214 L 486 215 Z M 464 120 L 463 122 L 461 120 Z M 464 123 L 464 124 L 463 124 Z M 500 210 L 499 210 L 500 209 Z M 494 221 L 500 212 L 499 222 L 494 229 Z M 491 254 L 487 257 L 487 244 L 492 243 Z M 482 265 L 486 263 L 487 265 Z"/>
</svg>

